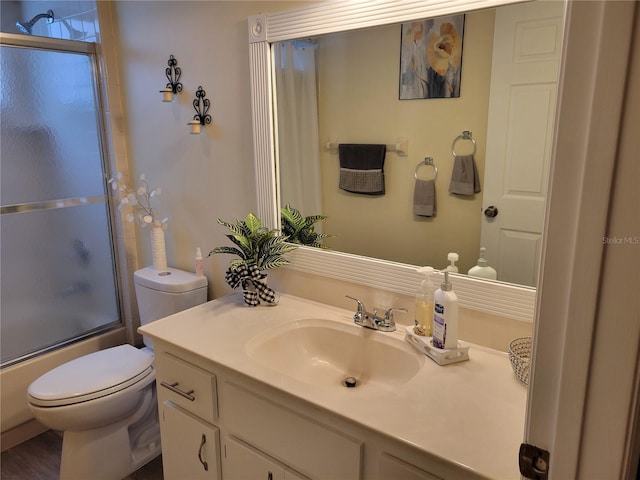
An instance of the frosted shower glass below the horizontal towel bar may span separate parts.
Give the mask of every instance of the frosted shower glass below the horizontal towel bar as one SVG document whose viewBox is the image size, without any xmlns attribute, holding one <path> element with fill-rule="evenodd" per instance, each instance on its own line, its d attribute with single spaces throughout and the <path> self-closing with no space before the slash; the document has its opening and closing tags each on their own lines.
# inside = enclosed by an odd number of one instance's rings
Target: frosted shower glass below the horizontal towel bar
<svg viewBox="0 0 640 480">
<path fill-rule="evenodd" d="M 3 215 L 2 362 L 119 321 L 105 204 Z"/>
</svg>

